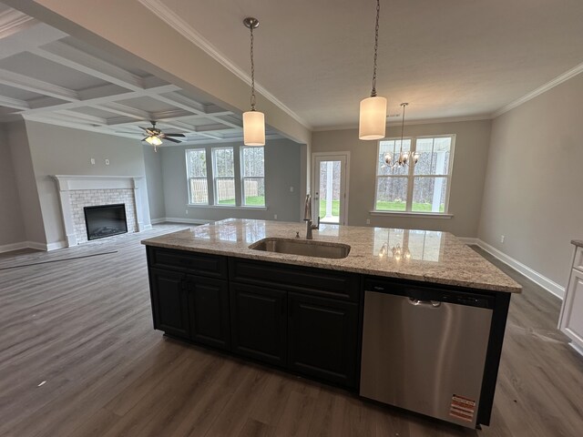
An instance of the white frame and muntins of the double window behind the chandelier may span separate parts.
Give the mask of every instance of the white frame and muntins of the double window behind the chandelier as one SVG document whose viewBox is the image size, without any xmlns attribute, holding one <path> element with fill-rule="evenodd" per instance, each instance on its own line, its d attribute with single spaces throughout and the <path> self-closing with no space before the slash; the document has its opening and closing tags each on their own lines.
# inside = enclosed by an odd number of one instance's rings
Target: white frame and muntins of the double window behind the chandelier
<svg viewBox="0 0 583 437">
<path fill-rule="evenodd" d="M 450 149 L 449 149 L 449 163 L 447 167 L 447 174 L 446 175 L 415 175 L 414 174 L 414 166 L 407 166 L 407 174 L 406 175 L 379 175 L 379 162 L 378 157 L 381 153 L 381 142 L 382 141 L 397 141 L 401 140 L 401 137 L 387 137 L 377 141 L 376 143 L 376 159 L 374 161 L 374 199 L 373 199 L 373 214 L 387 214 L 387 215 L 404 215 L 404 216 L 443 216 L 443 217 L 452 217 L 449 213 L 449 196 L 452 188 L 451 179 L 452 179 L 452 170 L 454 168 L 454 158 L 455 158 L 455 134 L 440 134 L 440 135 L 419 135 L 419 136 L 411 136 L 411 137 L 403 137 L 403 139 L 410 139 L 411 140 L 411 152 L 414 153 L 417 150 L 417 140 L 424 139 L 424 138 L 450 138 Z M 380 178 L 406 178 L 407 179 L 407 198 L 405 202 L 405 209 L 396 210 L 396 209 L 377 209 L 377 196 L 378 196 L 378 189 L 379 189 L 379 180 Z M 413 194 L 414 194 L 414 180 L 415 178 L 445 178 L 447 183 L 447 188 L 445 189 L 445 201 L 444 201 L 444 211 L 443 212 L 435 212 L 435 211 L 414 211 L 413 209 Z"/>
</svg>

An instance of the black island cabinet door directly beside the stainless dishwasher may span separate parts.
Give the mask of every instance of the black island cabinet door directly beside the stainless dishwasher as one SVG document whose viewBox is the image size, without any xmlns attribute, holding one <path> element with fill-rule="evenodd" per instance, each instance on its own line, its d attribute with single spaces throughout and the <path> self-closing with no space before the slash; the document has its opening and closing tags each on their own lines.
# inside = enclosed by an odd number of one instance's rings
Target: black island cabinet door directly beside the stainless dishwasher
<svg viewBox="0 0 583 437">
<path fill-rule="evenodd" d="M 356 386 L 356 304 L 290 293 L 288 323 L 290 369 Z"/>
</svg>

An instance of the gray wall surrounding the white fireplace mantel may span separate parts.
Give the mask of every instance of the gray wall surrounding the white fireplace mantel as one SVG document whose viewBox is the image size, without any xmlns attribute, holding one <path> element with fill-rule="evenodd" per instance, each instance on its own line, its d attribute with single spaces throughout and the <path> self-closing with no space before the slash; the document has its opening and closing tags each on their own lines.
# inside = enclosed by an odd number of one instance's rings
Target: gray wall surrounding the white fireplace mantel
<svg viewBox="0 0 583 437">
<path fill-rule="evenodd" d="M 65 240 L 56 181 L 51 175 L 145 176 L 138 140 L 26 121 L 36 187 L 48 244 Z M 90 158 L 96 159 L 91 165 Z M 109 159 L 109 165 L 105 159 Z M 145 224 L 149 224 L 148 188 L 139 187 Z"/>
</svg>

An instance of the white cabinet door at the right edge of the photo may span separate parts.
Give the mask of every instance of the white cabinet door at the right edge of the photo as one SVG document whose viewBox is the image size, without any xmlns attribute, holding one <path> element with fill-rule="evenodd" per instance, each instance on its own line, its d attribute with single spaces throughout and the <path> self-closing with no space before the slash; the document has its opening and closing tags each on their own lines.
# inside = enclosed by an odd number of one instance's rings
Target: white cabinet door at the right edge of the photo
<svg viewBox="0 0 583 437">
<path fill-rule="evenodd" d="M 583 354 L 583 272 L 578 269 L 571 272 L 560 329 L 573 340 L 571 346 Z"/>
</svg>

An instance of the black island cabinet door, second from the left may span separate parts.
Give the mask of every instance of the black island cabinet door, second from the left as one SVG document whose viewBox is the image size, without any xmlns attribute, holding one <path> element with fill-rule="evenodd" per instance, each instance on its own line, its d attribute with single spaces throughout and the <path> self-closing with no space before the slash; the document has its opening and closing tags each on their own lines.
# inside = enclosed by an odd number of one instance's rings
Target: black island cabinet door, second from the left
<svg viewBox="0 0 583 437">
<path fill-rule="evenodd" d="M 190 339 L 230 349 L 229 286 L 226 280 L 188 277 Z"/>
</svg>

